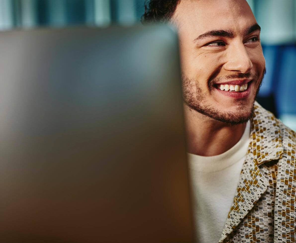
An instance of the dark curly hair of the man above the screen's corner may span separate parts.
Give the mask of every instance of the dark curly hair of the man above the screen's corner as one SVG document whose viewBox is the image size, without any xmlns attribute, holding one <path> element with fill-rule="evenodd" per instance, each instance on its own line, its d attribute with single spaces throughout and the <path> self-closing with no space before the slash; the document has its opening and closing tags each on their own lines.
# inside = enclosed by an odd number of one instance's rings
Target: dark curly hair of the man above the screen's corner
<svg viewBox="0 0 296 243">
<path fill-rule="evenodd" d="M 141 22 L 143 24 L 168 22 L 180 1 L 181 0 L 146 0 L 145 13 L 141 17 Z"/>
</svg>

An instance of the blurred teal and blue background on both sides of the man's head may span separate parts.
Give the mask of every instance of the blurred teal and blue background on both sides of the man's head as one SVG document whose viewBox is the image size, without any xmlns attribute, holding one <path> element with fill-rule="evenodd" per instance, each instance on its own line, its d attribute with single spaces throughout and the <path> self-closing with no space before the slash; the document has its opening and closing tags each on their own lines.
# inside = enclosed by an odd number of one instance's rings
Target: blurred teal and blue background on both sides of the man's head
<svg viewBox="0 0 296 243">
<path fill-rule="evenodd" d="M 296 130 L 296 0 L 247 0 L 261 26 L 266 76 L 258 101 Z M 0 0 L 0 30 L 133 25 L 144 0 Z"/>
</svg>

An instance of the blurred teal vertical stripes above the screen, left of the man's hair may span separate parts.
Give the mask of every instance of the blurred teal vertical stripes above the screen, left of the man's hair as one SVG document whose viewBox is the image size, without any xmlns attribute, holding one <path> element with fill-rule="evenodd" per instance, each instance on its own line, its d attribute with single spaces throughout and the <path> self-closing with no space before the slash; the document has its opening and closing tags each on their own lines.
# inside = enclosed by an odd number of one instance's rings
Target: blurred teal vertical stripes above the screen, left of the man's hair
<svg viewBox="0 0 296 243">
<path fill-rule="evenodd" d="M 132 25 L 144 0 L 0 0 L 0 30 L 36 26 Z"/>
</svg>

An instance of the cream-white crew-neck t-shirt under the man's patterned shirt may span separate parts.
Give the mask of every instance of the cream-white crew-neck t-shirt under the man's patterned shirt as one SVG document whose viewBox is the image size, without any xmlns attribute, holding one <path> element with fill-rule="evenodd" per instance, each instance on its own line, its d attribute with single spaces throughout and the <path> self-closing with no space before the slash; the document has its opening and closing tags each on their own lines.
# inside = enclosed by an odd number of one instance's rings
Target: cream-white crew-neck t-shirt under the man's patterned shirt
<svg viewBox="0 0 296 243">
<path fill-rule="evenodd" d="M 250 142 L 249 121 L 242 138 L 223 154 L 188 154 L 195 234 L 198 242 L 219 241 Z"/>
</svg>

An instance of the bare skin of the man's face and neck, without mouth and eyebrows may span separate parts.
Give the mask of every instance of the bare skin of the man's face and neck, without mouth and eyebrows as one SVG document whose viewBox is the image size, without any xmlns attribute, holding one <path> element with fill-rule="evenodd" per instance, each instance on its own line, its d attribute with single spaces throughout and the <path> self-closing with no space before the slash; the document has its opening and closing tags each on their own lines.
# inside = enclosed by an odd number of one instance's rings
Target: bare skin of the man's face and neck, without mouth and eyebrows
<svg viewBox="0 0 296 243">
<path fill-rule="evenodd" d="M 260 30 L 244 0 L 181 0 L 172 22 L 179 33 L 188 152 L 221 154 L 241 138 L 252 115 L 265 60 Z M 231 36 L 200 35 L 224 30 Z M 230 97 L 217 84 L 248 83 L 248 94 Z M 200 142 L 202 141 L 202 142 Z"/>
</svg>

